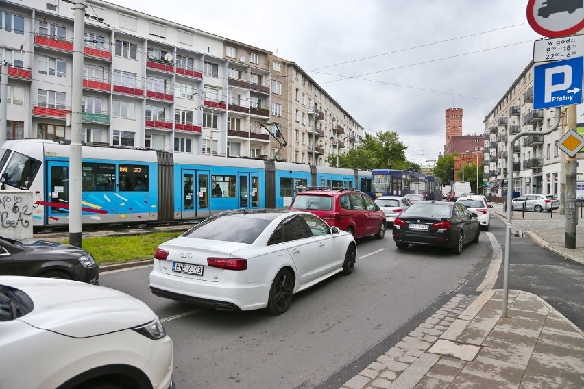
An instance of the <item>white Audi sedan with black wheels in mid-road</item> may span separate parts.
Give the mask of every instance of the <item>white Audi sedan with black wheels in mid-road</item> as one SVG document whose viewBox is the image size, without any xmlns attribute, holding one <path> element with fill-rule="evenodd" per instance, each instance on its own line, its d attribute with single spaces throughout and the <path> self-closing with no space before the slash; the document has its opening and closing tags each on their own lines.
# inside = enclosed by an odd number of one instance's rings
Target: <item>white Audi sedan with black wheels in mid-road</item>
<svg viewBox="0 0 584 389">
<path fill-rule="evenodd" d="M 216 310 L 286 312 L 292 295 L 356 261 L 353 236 L 304 211 L 233 210 L 160 244 L 150 289 Z"/>
</svg>

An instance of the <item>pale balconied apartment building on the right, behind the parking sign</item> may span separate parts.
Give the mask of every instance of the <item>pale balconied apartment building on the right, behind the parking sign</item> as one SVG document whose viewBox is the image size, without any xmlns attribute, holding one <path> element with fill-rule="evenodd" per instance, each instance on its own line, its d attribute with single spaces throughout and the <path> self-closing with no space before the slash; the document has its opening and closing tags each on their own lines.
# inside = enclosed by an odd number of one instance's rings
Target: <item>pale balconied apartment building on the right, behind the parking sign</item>
<svg viewBox="0 0 584 389">
<path fill-rule="evenodd" d="M 533 68 L 531 62 L 515 79 L 500 101 L 485 117 L 485 180 L 486 194 L 502 196 L 507 192 L 507 160 L 513 160 L 511 186 L 519 194 L 549 193 L 559 197 L 560 151 L 555 145 L 565 131 L 565 108 L 561 110 L 560 127 L 551 134 L 539 134 L 555 121 L 555 109 L 533 108 Z M 520 132 L 529 132 L 519 138 L 509 154 L 509 140 Z M 584 174 L 584 164 L 579 161 L 579 177 Z M 579 178 L 581 179 L 581 178 Z"/>
</svg>

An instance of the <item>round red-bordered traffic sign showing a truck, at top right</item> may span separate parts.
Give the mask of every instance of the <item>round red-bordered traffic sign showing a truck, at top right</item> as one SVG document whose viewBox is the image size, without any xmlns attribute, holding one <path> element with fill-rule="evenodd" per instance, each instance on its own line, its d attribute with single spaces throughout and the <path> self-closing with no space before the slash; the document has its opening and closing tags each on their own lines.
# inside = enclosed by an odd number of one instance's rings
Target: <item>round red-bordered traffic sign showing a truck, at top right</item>
<svg viewBox="0 0 584 389">
<path fill-rule="evenodd" d="M 527 21 L 537 34 L 561 38 L 584 29 L 583 0 L 528 0 Z"/>
</svg>

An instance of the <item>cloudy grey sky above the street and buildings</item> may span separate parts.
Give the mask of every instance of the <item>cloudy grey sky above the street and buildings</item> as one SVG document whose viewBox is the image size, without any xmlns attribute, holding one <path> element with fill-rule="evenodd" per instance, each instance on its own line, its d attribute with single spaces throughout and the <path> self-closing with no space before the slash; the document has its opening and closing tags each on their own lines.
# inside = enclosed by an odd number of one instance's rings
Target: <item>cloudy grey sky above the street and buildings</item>
<svg viewBox="0 0 584 389">
<path fill-rule="evenodd" d="M 483 120 L 542 38 L 524 0 L 110 0 L 292 60 L 369 133 L 396 131 L 409 160 L 435 160 L 444 111 Z"/>
</svg>

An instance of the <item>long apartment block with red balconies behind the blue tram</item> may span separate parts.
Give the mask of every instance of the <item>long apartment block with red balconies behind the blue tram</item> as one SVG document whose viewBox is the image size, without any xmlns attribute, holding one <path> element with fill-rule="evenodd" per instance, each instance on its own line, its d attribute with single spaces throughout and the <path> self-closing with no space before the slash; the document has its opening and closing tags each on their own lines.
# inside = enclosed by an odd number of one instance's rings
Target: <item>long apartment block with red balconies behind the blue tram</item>
<svg viewBox="0 0 584 389">
<path fill-rule="evenodd" d="M 71 4 L 3 1 L 0 16 L 0 56 L 8 63 L 7 138 L 70 139 Z M 363 128 L 308 79 L 299 66 L 273 60 L 264 49 L 112 3 L 86 2 L 86 143 L 324 164 L 332 141 L 309 149 L 316 144 L 308 142 L 308 118 L 315 118 L 309 108 L 323 101 L 341 128 L 360 134 Z M 305 100 L 295 99 L 295 89 Z M 290 142 L 301 138 L 295 131 L 303 131 L 304 142 Z M 285 147 L 279 137 L 289 140 Z"/>
</svg>

